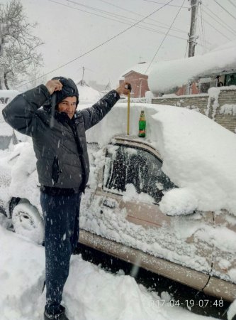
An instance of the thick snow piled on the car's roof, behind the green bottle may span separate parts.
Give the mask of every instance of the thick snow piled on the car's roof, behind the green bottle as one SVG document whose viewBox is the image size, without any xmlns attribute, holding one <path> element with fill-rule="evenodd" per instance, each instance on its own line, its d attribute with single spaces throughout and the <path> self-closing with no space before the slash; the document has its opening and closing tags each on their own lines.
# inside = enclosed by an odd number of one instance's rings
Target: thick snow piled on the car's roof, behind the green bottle
<svg viewBox="0 0 236 320">
<path fill-rule="evenodd" d="M 183 214 L 224 208 L 235 215 L 235 134 L 193 110 L 133 103 L 130 136 L 137 137 L 141 110 L 147 120 L 143 141 L 159 150 L 164 173 L 179 186 L 164 195 L 162 211 Z M 125 134 L 126 122 L 127 105 L 118 103 L 86 133 L 88 142 L 106 145 L 113 136 Z"/>
</svg>

